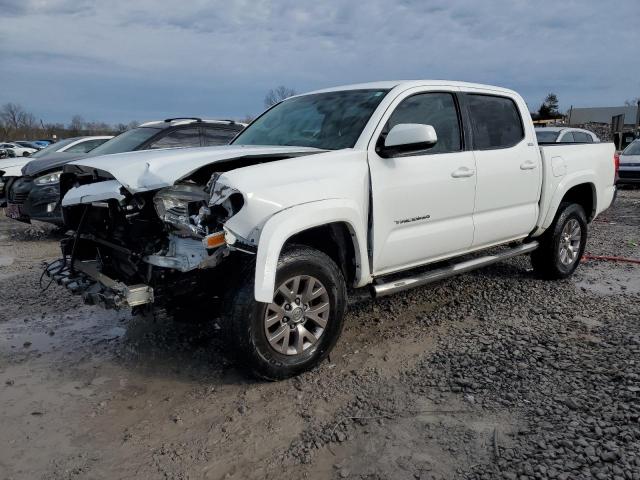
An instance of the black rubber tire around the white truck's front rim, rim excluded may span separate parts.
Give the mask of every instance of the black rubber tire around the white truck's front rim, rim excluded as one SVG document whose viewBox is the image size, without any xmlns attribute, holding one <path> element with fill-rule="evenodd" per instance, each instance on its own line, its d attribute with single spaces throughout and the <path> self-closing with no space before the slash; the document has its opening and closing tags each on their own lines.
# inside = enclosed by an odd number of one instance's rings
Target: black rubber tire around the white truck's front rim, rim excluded
<svg viewBox="0 0 640 480">
<path fill-rule="evenodd" d="M 265 332 L 268 304 L 254 298 L 255 264 L 247 264 L 242 269 L 237 288 L 230 288 L 225 298 L 222 318 L 227 349 L 259 378 L 281 380 L 315 367 L 329 355 L 342 332 L 347 289 L 338 266 L 313 248 L 300 245 L 285 248 L 278 261 L 276 289 L 288 279 L 301 275 L 321 282 L 330 306 L 326 327 L 316 343 L 302 353 L 286 355 L 269 343 Z"/>
</svg>

